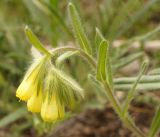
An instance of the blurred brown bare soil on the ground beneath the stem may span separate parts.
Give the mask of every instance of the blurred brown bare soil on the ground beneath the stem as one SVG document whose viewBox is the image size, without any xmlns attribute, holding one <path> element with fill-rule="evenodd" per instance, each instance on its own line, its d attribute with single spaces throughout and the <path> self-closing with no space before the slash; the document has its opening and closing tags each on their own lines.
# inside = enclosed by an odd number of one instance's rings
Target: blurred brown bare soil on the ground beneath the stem
<svg viewBox="0 0 160 137">
<path fill-rule="evenodd" d="M 151 105 L 133 103 L 130 113 L 137 126 L 147 133 L 155 109 Z M 126 129 L 112 107 L 88 109 L 57 127 L 49 137 L 135 137 Z M 160 137 L 160 134 L 158 135 Z"/>
</svg>

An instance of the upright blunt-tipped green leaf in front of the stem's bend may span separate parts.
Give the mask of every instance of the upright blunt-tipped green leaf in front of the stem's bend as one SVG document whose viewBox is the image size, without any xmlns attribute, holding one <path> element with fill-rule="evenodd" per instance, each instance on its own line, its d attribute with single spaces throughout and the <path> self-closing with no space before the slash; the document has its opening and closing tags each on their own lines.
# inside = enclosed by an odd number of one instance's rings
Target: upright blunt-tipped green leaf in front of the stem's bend
<svg viewBox="0 0 160 137">
<path fill-rule="evenodd" d="M 108 43 L 106 40 L 103 40 L 99 45 L 98 65 L 97 65 L 97 75 L 96 75 L 96 78 L 100 81 L 106 80 L 107 49 L 108 49 Z"/>
</svg>

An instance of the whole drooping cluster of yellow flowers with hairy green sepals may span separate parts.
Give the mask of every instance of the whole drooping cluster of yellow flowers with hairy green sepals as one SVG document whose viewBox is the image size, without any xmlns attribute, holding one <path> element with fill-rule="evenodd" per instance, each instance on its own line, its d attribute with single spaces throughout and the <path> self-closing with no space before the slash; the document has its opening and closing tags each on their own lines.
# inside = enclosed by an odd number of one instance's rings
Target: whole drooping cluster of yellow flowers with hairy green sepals
<svg viewBox="0 0 160 137">
<path fill-rule="evenodd" d="M 73 79 L 51 63 L 51 58 L 45 56 L 31 65 L 16 96 L 27 102 L 29 111 L 40 113 L 44 121 L 52 122 L 64 117 L 65 106 L 72 108 L 83 96 L 82 91 Z"/>
</svg>

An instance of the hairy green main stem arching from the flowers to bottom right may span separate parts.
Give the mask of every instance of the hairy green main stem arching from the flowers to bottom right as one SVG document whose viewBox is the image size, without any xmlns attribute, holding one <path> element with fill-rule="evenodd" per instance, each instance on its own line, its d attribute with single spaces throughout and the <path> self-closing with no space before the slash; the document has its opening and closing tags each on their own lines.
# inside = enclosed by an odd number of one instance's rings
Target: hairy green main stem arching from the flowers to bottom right
<svg viewBox="0 0 160 137">
<path fill-rule="evenodd" d="M 92 66 L 93 68 L 96 69 L 96 62 L 95 60 L 88 54 L 86 54 L 84 51 L 74 48 L 74 47 L 60 47 L 60 48 L 55 48 L 54 50 L 51 51 L 52 56 L 55 56 L 59 52 L 64 52 L 64 51 L 79 51 L 80 55 L 82 55 Z M 135 126 L 134 122 L 131 120 L 131 117 L 126 115 L 123 117 L 122 115 L 122 110 L 120 107 L 120 104 L 118 100 L 115 98 L 112 89 L 109 87 L 108 83 L 106 81 L 102 81 L 102 85 L 104 86 L 105 90 L 107 91 L 106 94 L 108 96 L 109 101 L 111 102 L 115 112 L 118 114 L 120 119 L 123 121 L 123 123 L 126 125 L 127 128 L 129 128 L 133 133 L 135 133 L 138 137 L 145 137 L 143 133 Z"/>
</svg>

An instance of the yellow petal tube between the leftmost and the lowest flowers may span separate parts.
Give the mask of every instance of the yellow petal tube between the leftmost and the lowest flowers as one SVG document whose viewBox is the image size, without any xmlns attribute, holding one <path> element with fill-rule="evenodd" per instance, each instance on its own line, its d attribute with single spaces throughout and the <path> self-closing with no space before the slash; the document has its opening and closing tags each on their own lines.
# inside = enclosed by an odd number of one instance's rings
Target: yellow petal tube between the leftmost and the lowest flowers
<svg viewBox="0 0 160 137">
<path fill-rule="evenodd" d="M 27 108 L 28 111 L 33 113 L 37 113 L 41 111 L 42 106 L 42 91 L 40 90 L 39 93 L 34 92 L 31 98 L 27 101 Z"/>
</svg>

